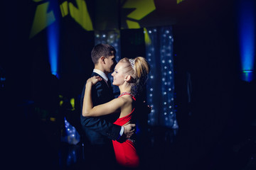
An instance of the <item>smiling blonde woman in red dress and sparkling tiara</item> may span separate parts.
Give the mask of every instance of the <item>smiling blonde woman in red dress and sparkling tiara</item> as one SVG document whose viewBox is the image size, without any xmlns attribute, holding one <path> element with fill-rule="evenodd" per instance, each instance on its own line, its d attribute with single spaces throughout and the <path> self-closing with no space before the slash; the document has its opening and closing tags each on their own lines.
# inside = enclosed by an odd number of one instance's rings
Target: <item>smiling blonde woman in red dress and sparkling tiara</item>
<svg viewBox="0 0 256 170">
<path fill-rule="evenodd" d="M 144 57 L 136 57 L 135 59 L 124 58 L 120 60 L 114 72 L 113 85 L 118 86 L 120 95 L 108 103 L 92 106 L 91 89 L 97 81 L 102 81 L 100 77 L 92 77 L 87 80 L 85 97 L 82 106 L 83 116 L 100 116 L 112 113 L 118 113 L 119 118 L 114 122 L 116 125 L 127 125 L 134 121 L 135 95 L 139 89 L 145 84 L 147 74 L 149 74 L 149 64 Z M 134 140 L 127 139 L 125 142 L 112 141 L 114 154 L 117 163 L 127 167 L 139 166 L 139 157 L 134 147 Z"/>
</svg>

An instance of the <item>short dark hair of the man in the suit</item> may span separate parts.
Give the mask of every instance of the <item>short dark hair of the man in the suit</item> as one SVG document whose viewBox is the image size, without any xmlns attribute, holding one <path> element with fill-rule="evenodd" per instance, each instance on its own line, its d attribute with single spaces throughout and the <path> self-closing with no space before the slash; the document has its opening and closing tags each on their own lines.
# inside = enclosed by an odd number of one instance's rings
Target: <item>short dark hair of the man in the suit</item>
<svg viewBox="0 0 256 170">
<path fill-rule="evenodd" d="M 116 50 L 112 45 L 107 45 L 107 44 L 98 44 L 93 47 L 92 52 L 91 52 L 91 57 L 92 57 L 92 62 L 94 64 L 97 64 L 98 60 L 100 57 L 110 57 L 112 55 L 115 56 Z"/>
</svg>

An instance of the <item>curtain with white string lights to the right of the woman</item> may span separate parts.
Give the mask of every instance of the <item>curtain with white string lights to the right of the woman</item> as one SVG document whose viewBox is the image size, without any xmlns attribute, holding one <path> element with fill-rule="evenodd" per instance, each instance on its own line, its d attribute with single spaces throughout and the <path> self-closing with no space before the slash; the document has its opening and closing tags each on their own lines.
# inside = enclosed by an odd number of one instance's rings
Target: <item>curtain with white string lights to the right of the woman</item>
<svg viewBox="0 0 256 170">
<path fill-rule="evenodd" d="M 174 108 L 174 66 L 171 26 L 146 28 L 146 59 L 151 72 L 147 81 L 147 102 L 152 107 L 149 125 L 178 128 Z"/>
</svg>

